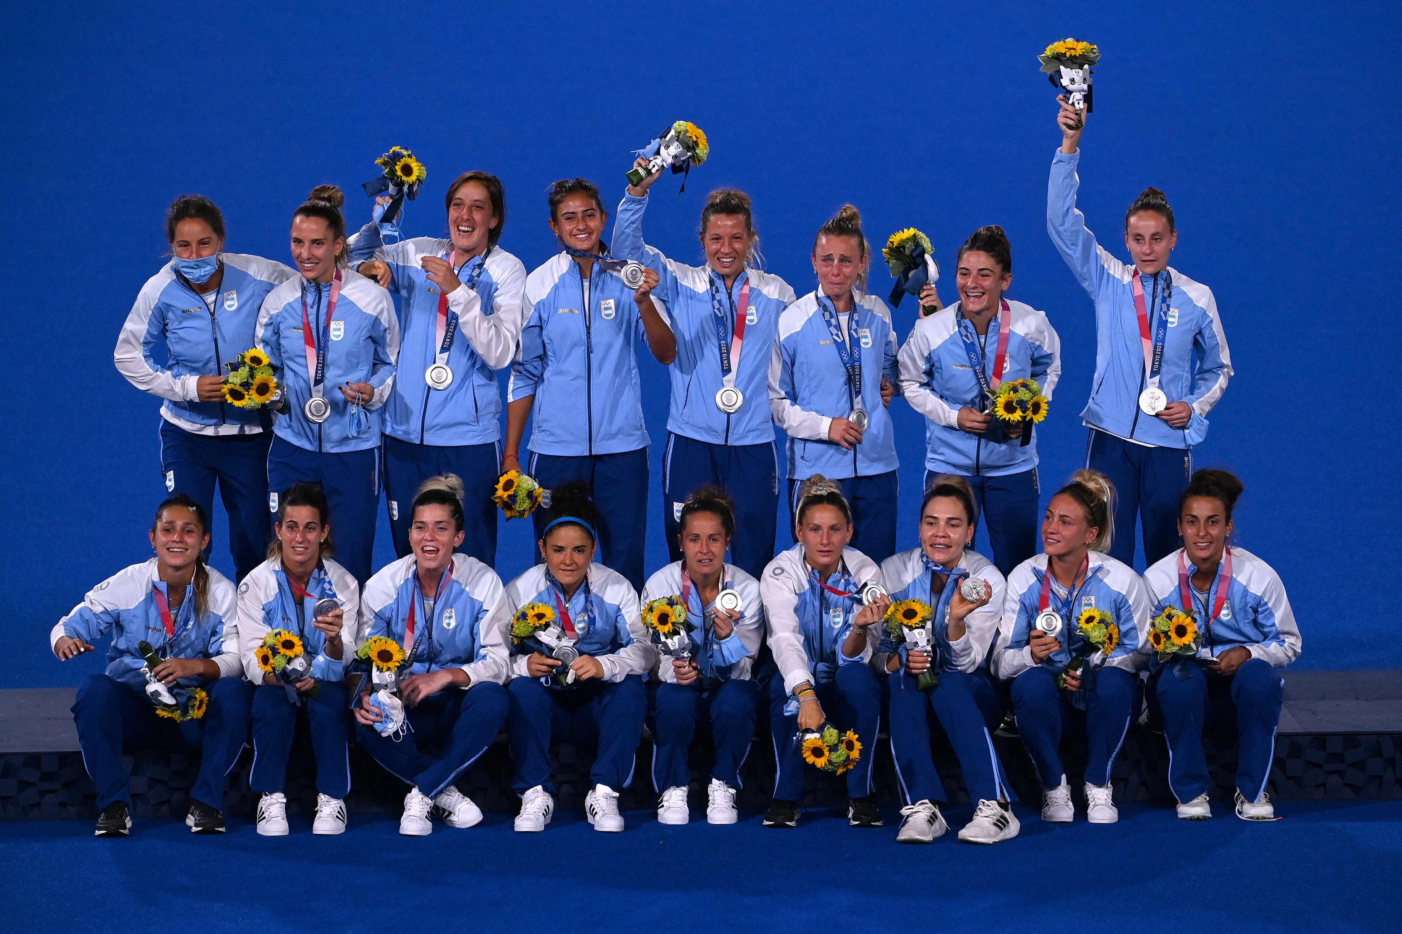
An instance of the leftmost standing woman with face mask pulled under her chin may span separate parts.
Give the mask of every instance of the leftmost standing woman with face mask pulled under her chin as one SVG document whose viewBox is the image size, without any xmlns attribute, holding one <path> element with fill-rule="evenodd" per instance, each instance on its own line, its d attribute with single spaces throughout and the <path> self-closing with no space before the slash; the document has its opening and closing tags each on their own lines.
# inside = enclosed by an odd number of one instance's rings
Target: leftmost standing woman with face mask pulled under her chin
<svg viewBox="0 0 1402 934">
<path fill-rule="evenodd" d="M 268 541 L 264 410 L 224 400 L 224 364 L 254 346 L 264 298 L 296 273 L 262 256 L 224 252 L 224 216 L 203 195 L 165 213 L 171 262 L 151 276 L 116 339 L 116 370 L 161 403 L 165 493 L 191 496 L 213 515 L 217 483 L 229 513 L 236 578 L 258 566 Z M 165 344 L 165 363 L 153 356 Z"/>
</svg>

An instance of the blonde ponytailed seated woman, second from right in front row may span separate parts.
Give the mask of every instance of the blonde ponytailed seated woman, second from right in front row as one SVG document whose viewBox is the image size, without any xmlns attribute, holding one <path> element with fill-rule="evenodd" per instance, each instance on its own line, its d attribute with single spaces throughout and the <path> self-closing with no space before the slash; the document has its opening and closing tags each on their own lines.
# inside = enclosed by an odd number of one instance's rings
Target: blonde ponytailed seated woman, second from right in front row
<svg viewBox="0 0 1402 934">
<path fill-rule="evenodd" d="M 1022 742 L 1042 781 L 1042 819 L 1075 818 L 1071 786 L 1059 751 L 1063 728 L 1084 730 L 1091 756 L 1085 766 L 1087 819 L 1115 823 L 1110 776 L 1124 734 L 1138 713 L 1138 678 L 1150 597 L 1134 569 L 1106 552 L 1115 535 L 1115 487 L 1102 473 L 1077 471 L 1047 506 L 1042 520 L 1042 555 L 1018 564 L 993 653 L 993 674 L 1012 681 L 1012 710 Z M 1088 613 L 1108 613 L 1087 619 Z M 1077 660 L 1092 655 L 1080 622 L 1113 625 L 1115 644 L 1103 665 Z M 1105 626 L 1110 630 L 1110 626 Z"/>
</svg>

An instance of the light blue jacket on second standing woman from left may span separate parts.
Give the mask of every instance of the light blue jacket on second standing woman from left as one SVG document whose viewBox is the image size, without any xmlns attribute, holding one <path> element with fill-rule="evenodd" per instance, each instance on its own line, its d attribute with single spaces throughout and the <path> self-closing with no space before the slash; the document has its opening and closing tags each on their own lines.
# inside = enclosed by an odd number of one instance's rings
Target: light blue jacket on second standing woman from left
<svg viewBox="0 0 1402 934">
<path fill-rule="evenodd" d="M 331 417 L 315 424 L 303 406 L 311 398 L 306 344 L 301 336 L 301 302 L 317 346 L 327 333 L 327 304 L 331 283 L 310 283 L 301 276 L 278 286 L 264 301 L 254 339 L 282 372 L 287 412 L 278 414 L 273 433 L 306 451 L 345 454 L 380 447 L 381 406 L 390 395 L 394 361 L 400 356 L 400 322 L 390 293 L 352 269 L 342 269 L 341 297 L 329 322 L 325 384 L 322 395 L 331 403 Z M 369 423 L 359 437 L 350 434 L 350 402 L 339 386 L 369 382 L 374 396 L 363 403 Z"/>
</svg>

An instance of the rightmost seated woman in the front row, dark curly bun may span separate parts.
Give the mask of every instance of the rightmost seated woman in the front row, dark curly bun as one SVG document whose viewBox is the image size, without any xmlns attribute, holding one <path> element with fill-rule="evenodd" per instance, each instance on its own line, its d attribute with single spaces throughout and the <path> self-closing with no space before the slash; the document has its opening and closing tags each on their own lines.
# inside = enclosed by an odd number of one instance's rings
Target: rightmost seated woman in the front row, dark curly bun
<svg viewBox="0 0 1402 934">
<path fill-rule="evenodd" d="M 1280 668 L 1300 657 L 1300 627 L 1286 587 L 1266 562 L 1230 545 L 1242 483 L 1227 471 L 1197 471 L 1179 497 L 1183 548 L 1144 573 L 1154 613 L 1192 613 L 1203 634 L 1197 661 L 1154 665 L 1150 689 L 1164 714 L 1168 784 L 1178 816 L 1211 816 L 1203 728 L 1237 734 L 1237 816 L 1270 821 L 1266 794 L 1284 702 Z"/>
</svg>

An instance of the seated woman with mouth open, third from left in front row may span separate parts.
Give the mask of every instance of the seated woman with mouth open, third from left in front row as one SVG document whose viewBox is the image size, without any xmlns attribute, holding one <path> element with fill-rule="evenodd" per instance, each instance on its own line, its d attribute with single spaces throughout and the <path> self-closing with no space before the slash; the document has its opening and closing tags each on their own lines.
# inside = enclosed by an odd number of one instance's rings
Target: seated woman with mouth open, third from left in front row
<svg viewBox="0 0 1402 934">
<path fill-rule="evenodd" d="M 360 686 L 355 717 L 360 745 L 407 781 L 400 833 L 432 833 L 437 814 L 450 828 L 470 828 L 482 811 L 454 780 L 486 752 L 506 720 L 503 633 L 486 625 L 502 595 L 502 578 L 463 543 L 463 480 L 429 478 L 409 507 L 412 550 L 365 585 L 363 634 L 397 641 L 408 655 L 400 674 L 404 735 L 384 735 L 384 714 Z M 425 748 L 436 744 L 432 753 Z"/>
</svg>

